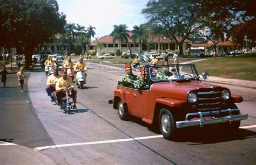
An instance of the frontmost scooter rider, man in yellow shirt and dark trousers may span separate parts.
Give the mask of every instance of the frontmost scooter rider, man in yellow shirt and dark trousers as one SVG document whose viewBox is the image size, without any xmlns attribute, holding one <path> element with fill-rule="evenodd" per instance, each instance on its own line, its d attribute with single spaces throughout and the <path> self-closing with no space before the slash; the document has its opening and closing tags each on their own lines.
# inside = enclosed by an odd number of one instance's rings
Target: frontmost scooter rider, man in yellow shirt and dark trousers
<svg viewBox="0 0 256 165">
<path fill-rule="evenodd" d="M 65 84 L 68 83 L 69 84 L 69 88 L 71 90 L 71 94 L 69 94 L 70 97 L 72 97 L 72 100 L 73 100 L 73 108 L 76 109 L 77 106 L 76 106 L 76 99 L 77 99 L 77 91 L 74 87 L 74 84 L 71 80 L 71 78 L 69 78 L 67 76 L 67 72 L 66 72 L 66 69 L 63 69 L 62 70 L 62 77 L 58 78 L 57 80 L 57 83 L 56 83 L 56 97 L 57 97 L 57 101 L 58 101 L 58 104 L 60 105 L 60 109 L 63 109 L 63 106 L 62 106 L 62 97 L 65 97 L 66 96 L 66 87 L 65 87 Z"/>
</svg>

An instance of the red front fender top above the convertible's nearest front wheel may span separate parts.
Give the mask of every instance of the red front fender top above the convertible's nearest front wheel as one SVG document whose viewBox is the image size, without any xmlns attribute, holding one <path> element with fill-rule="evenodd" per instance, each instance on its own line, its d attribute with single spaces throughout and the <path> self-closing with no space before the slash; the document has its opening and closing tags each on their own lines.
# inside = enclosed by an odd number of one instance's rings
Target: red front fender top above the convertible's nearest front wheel
<svg viewBox="0 0 256 165">
<path fill-rule="evenodd" d="M 179 100 L 179 99 L 172 99 L 172 98 L 158 98 L 156 99 L 156 104 L 164 104 L 175 109 L 181 108 L 187 101 Z"/>
</svg>

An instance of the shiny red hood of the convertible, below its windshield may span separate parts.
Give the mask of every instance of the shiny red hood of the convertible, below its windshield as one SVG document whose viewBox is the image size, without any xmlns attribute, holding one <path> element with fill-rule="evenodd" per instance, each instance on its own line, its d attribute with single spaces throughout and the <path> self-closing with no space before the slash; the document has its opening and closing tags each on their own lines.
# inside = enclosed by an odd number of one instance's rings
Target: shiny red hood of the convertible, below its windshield
<svg viewBox="0 0 256 165">
<path fill-rule="evenodd" d="M 157 91 L 159 97 L 187 100 L 191 91 L 206 88 L 220 88 L 218 85 L 192 80 L 191 82 L 159 82 L 151 86 L 152 91 Z"/>
</svg>

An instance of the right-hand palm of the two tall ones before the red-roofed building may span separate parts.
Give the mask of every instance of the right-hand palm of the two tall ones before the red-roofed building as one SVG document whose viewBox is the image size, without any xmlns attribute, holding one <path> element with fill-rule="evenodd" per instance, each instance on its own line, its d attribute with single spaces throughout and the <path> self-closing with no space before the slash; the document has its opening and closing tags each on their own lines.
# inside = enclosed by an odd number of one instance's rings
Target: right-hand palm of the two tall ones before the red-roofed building
<svg viewBox="0 0 256 165">
<path fill-rule="evenodd" d="M 131 36 L 131 39 L 133 40 L 133 42 L 136 42 L 137 40 L 139 42 L 139 54 L 140 54 L 142 42 L 145 41 L 145 39 L 148 38 L 149 35 L 147 35 L 147 32 L 143 27 L 143 25 L 133 26 L 132 33 L 133 34 Z"/>
</svg>

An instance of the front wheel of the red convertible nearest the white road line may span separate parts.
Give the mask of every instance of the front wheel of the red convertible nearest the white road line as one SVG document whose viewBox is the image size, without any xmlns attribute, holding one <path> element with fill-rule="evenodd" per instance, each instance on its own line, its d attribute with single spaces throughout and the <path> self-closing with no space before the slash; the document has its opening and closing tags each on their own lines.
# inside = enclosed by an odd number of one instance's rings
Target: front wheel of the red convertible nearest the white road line
<svg viewBox="0 0 256 165">
<path fill-rule="evenodd" d="M 167 109 L 161 109 L 159 114 L 159 128 L 165 139 L 174 140 L 177 137 L 177 127 L 173 114 Z"/>
</svg>

